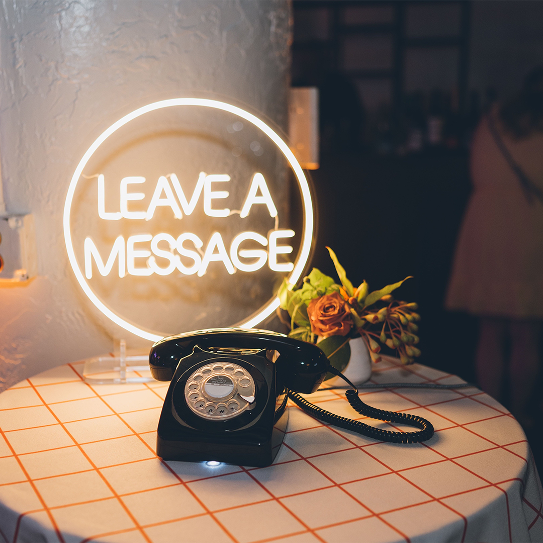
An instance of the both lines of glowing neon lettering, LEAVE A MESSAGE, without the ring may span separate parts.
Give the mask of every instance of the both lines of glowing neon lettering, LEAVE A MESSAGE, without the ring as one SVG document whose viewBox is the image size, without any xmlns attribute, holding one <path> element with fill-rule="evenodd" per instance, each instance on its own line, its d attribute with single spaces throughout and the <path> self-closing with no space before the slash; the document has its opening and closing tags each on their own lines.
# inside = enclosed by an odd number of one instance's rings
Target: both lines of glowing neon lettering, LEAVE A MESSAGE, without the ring
<svg viewBox="0 0 543 543">
<path fill-rule="evenodd" d="M 156 182 L 155 190 L 147 211 L 129 211 L 129 202 L 140 201 L 146 197 L 143 192 L 130 191 L 130 185 L 142 185 L 146 182 L 146 178 L 141 176 L 125 177 L 120 184 L 120 201 L 121 211 L 106 212 L 105 211 L 105 178 L 103 174 L 98 175 L 98 216 L 104 220 L 150 220 L 153 218 L 156 208 L 159 206 L 170 207 L 176 219 L 182 219 L 183 214 L 190 215 L 194 211 L 200 194 L 203 192 L 204 213 L 208 217 L 228 217 L 230 214 L 239 213 L 241 218 L 248 217 L 251 212 L 251 207 L 256 204 L 262 204 L 267 207 L 270 217 L 277 217 L 277 209 L 271 194 L 266 184 L 266 179 L 261 173 L 255 173 L 252 176 L 247 197 L 242 206 L 241 211 L 230 211 L 228 208 L 216 209 L 212 205 L 212 200 L 228 198 L 228 191 L 212 190 L 212 184 L 218 182 L 230 181 L 230 176 L 226 174 L 207 175 L 205 172 L 200 172 L 197 184 L 192 193 L 191 199 L 187 200 L 178 177 L 175 174 L 168 176 L 173 185 L 169 184 L 167 176 L 161 175 Z M 174 192 L 178 197 L 175 199 Z M 260 192 L 260 195 L 258 194 Z M 165 195 L 165 198 L 162 197 Z M 158 275 L 170 275 L 175 269 L 178 269 L 184 275 L 197 274 L 198 277 L 203 276 L 207 267 L 211 262 L 222 262 L 226 271 L 230 275 L 236 273 L 236 270 L 252 272 L 262 268 L 266 262 L 273 271 L 289 272 L 294 268 L 292 262 L 277 262 L 277 255 L 287 255 L 292 252 L 291 245 L 279 245 L 278 241 L 282 238 L 291 238 L 295 236 L 295 232 L 290 229 L 277 229 L 268 233 L 267 237 L 262 236 L 257 232 L 245 231 L 239 233 L 232 239 L 230 250 L 227 251 L 223 237 L 220 232 L 213 232 L 207 241 L 205 250 L 201 250 L 204 242 L 192 232 L 183 232 L 177 238 L 171 234 L 161 232 L 156 236 L 150 233 L 141 233 L 135 236 L 128 237 L 126 243 L 123 236 L 118 236 L 113 243 L 113 247 L 109 253 L 108 259 L 104 264 L 104 260 L 96 247 L 96 244 L 90 236 L 85 238 L 85 277 L 92 279 L 92 260 L 100 275 L 109 275 L 113 269 L 115 260 L 118 263 L 118 275 L 124 277 L 127 272 L 129 275 L 148 276 L 154 273 Z M 243 242 L 252 240 L 268 247 L 268 250 L 263 249 L 240 249 Z M 149 243 L 143 247 L 141 244 Z M 191 242 L 193 248 L 186 247 L 185 242 Z M 136 243 L 138 247 L 136 248 Z M 161 244 L 161 245 L 159 245 Z M 254 245 L 254 244 L 253 244 Z M 174 253 L 176 251 L 176 254 Z M 162 259 L 160 265 L 156 257 Z M 183 257 L 183 260 L 181 260 Z M 136 265 L 136 259 L 145 258 L 143 263 L 139 261 Z M 248 259 L 255 259 L 248 261 Z M 190 266 L 187 266 L 187 259 L 191 261 Z M 243 259 L 243 260 L 242 260 Z M 163 261 L 167 264 L 164 265 Z"/>
</svg>

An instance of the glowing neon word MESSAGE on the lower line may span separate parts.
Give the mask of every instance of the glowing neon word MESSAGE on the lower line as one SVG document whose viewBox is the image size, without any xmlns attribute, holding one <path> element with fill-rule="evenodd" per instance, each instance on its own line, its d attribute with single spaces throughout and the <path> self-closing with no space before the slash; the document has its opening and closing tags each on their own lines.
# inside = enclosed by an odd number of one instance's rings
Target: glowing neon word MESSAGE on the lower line
<svg viewBox="0 0 543 543">
<path fill-rule="evenodd" d="M 291 238 L 294 235 L 295 232 L 288 229 L 271 230 L 268 238 L 257 232 L 242 232 L 233 238 L 230 251 L 227 251 L 220 232 L 214 232 L 207 242 L 203 256 L 197 250 L 184 246 L 184 243 L 188 241 L 192 242 L 196 249 L 203 247 L 204 243 L 201 239 L 191 232 L 184 232 L 177 239 L 168 233 L 159 233 L 154 237 L 147 233 L 138 234 L 130 236 L 126 243 L 123 236 L 118 236 L 105 264 L 92 238 L 87 237 L 85 238 L 85 276 L 87 279 L 92 279 L 92 258 L 94 258 L 94 263 L 100 275 L 103 276 L 109 275 L 115 260 L 118 261 L 119 277 L 124 277 L 127 270 L 130 275 L 153 275 L 154 273 L 169 275 L 175 269 L 178 269 L 184 275 L 197 274 L 201 277 L 206 273 L 210 262 L 222 262 L 229 274 L 236 273 L 237 269 L 240 271 L 256 271 L 262 268 L 266 262 L 273 271 L 288 272 L 293 270 L 294 264 L 292 262 L 277 262 L 277 255 L 291 253 L 292 246 L 278 245 L 277 240 Z M 240 249 L 240 245 L 249 239 L 263 247 L 268 247 L 268 250 Z M 149 242 L 150 248 L 143 248 L 141 245 L 138 248 L 135 247 L 136 243 Z M 162 248 L 159 247 L 161 242 Z M 165 248 L 165 243 L 169 246 L 169 249 Z M 186 258 L 189 258 L 192 264 L 185 266 L 181 262 L 181 256 L 185 257 L 185 262 Z M 167 265 L 159 266 L 156 257 L 163 259 L 161 263 L 167 262 Z M 146 258 L 144 267 L 141 265 L 136 267 L 136 258 Z M 247 261 L 246 259 L 251 260 Z"/>
</svg>

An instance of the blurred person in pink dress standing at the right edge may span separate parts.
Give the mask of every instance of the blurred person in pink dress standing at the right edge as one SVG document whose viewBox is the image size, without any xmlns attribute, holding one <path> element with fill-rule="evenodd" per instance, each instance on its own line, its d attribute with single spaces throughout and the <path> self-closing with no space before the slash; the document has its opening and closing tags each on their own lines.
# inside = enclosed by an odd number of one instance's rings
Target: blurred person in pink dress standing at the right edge
<svg viewBox="0 0 543 543">
<path fill-rule="evenodd" d="M 479 316 L 479 385 L 496 399 L 505 393 L 529 426 L 543 319 L 543 67 L 482 118 L 470 169 L 445 305 Z"/>
</svg>

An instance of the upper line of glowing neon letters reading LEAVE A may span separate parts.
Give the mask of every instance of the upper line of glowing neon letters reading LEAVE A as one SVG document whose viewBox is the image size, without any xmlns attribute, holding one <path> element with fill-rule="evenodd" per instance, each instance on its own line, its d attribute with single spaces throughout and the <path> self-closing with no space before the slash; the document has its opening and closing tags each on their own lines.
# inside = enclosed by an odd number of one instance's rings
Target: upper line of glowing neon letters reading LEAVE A
<svg viewBox="0 0 543 543">
<path fill-rule="evenodd" d="M 166 176 L 161 175 L 159 180 L 156 182 L 153 197 L 151 198 L 147 211 L 129 211 L 128 209 L 129 201 L 143 200 L 145 198 L 145 194 L 143 192 L 128 192 L 129 186 L 142 184 L 145 182 L 145 178 L 140 176 L 123 178 L 121 180 L 120 187 L 121 211 L 110 212 L 105 210 L 104 175 L 98 175 L 98 216 L 104 220 L 119 220 L 123 218 L 150 220 L 153 218 L 157 207 L 166 206 L 171 207 L 176 219 L 181 219 L 183 217 L 183 213 L 185 213 L 185 215 L 192 214 L 202 192 L 204 193 L 204 213 L 208 217 L 228 217 L 230 215 L 230 209 L 228 209 L 228 207 L 224 207 L 223 209 L 216 209 L 213 207 L 213 200 L 228 198 L 230 193 L 228 191 L 212 190 L 213 183 L 224 183 L 226 181 L 230 181 L 230 175 L 207 175 L 205 172 L 200 172 L 198 182 L 194 188 L 194 192 L 192 193 L 190 200 L 187 200 L 177 176 L 173 173 L 169 175 L 169 178 L 172 180 L 173 190 Z M 257 195 L 259 190 L 260 195 Z M 177 195 L 177 200 L 175 199 L 174 191 Z M 247 193 L 247 198 L 245 198 L 239 216 L 242 219 L 247 217 L 251 211 L 251 207 L 254 204 L 265 204 L 268 207 L 270 217 L 277 216 L 277 209 L 273 200 L 271 199 L 271 194 L 268 185 L 266 184 L 266 179 L 264 179 L 264 176 L 261 173 L 255 173 L 255 175 L 252 176 L 249 192 Z M 183 212 L 181 212 L 181 208 Z"/>
</svg>

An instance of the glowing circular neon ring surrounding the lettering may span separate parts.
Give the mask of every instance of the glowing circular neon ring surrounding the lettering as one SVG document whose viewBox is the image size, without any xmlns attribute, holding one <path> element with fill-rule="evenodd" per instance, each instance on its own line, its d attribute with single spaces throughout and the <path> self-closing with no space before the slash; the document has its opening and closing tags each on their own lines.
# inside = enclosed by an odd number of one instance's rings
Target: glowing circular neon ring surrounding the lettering
<svg viewBox="0 0 543 543">
<path fill-rule="evenodd" d="M 260 128 L 260 130 L 262 130 L 264 134 L 266 134 L 270 138 L 270 140 L 275 143 L 275 145 L 285 156 L 289 165 L 291 165 L 291 168 L 293 169 L 296 176 L 296 180 L 298 180 L 298 185 L 302 194 L 302 209 L 304 210 L 304 231 L 302 234 L 301 250 L 299 251 L 298 260 L 294 265 L 294 269 L 291 271 L 291 274 L 287 278 L 287 280 L 292 284 L 298 282 L 301 274 L 304 271 L 305 265 L 310 255 L 311 242 L 313 239 L 313 203 L 311 199 L 311 191 L 306 176 L 304 175 L 304 171 L 302 170 L 302 167 L 300 166 L 298 160 L 296 160 L 296 157 L 294 156 L 292 151 L 288 148 L 287 144 L 266 123 L 261 121 L 261 119 L 255 117 L 254 115 L 252 115 L 252 113 L 249 113 L 248 111 L 237 108 L 234 105 L 206 98 L 173 98 L 170 100 L 161 100 L 160 102 L 148 104 L 146 106 L 143 106 L 142 108 L 138 108 L 135 111 L 132 111 L 131 113 L 128 113 L 128 115 L 125 115 L 124 117 L 119 119 L 107 130 L 102 132 L 100 136 L 98 136 L 96 141 L 94 141 L 94 143 L 89 147 L 89 149 L 87 149 L 86 153 L 83 155 L 83 158 L 80 160 L 77 168 L 75 168 L 75 172 L 72 176 L 72 180 L 70 181 L 70 187 L 68 187 L 68 193 L 66 194 L 66 201 L 64 204 L 64 240 L 66 243 L 66 250 L 68 252 L 68 259 L 70 260 L 70 264 L 74 271 L 75 277 L 77 277 L 79 285 L 81 286 L 81 288 L 83 288 L 83 291 L 94 304 L 94 306 L 96 306 L 98 310 L 106 315 L 106 317 L 108 317 L 110 320 L 112 320 L 114 323 L 118 324 L 125 330 L 128 330 L 136 336 L 139 336 L 143 339 L 148 339 L 153 342 L 162 339 L 162 336 L 148 332 L 146 330 L 138 328 L 133 324 L 130 324 L 122 317 L 119 317 L 119 315 L 117 315 L 115 312 L 111 311 L 110 308 L 106 306 L 102 301 L 100 301 L 98 299 L 98 296 L 94 294 L 94 292 L 92 292 L 92 289 L 86 282 L 83 273 L 81 273 L 81 270 L 79 269 L 77 263 L 77 259 L 75 258 L 75 252 L 73 250 L 72 244 L 72 233 L 70 231 L 70 211 L 72 207 L 75 187 L 78 184 L 81 173 L 83 173 L 83 169 L 87 165 L 87 162 L 89 161 L 91 156 L 94 154 L 94 151 L 96 151 L 98 147 L 100 147 L 100 145 L 102 145 L 102 143 L 104 143 L 104 141 L 109 136 L 111 136 L 111 134 L 113 134 L 113 132 L 123 127 L 125 124 L 132 121 L 133 119 L 140 117 L 144 113 L 148 113 L 149 111 L 155 111 L 162 108 L 171 108 L 172 106 L 177 105 L 195 105 L 203 106 L 204 108 L 220 109 L 233 113 L 233 115 L 237 115 L 242 119 L 245 119 L 245 121 L 248 121 L 249 123 L 255 125 L 255 127 L 257 128 Z M 248 320 L 243 321 L 242 323 L 239 323 L 238 326 L 252 328 L 258 323 L 261 323 L 264 319 L 266 319 L 266 317 L 273 313 L 277 309 L 277 307 L 279 307 L 279 298 L 277 298 L 276 296 L 256 315 L 249 318 Z"/>
</svg>

